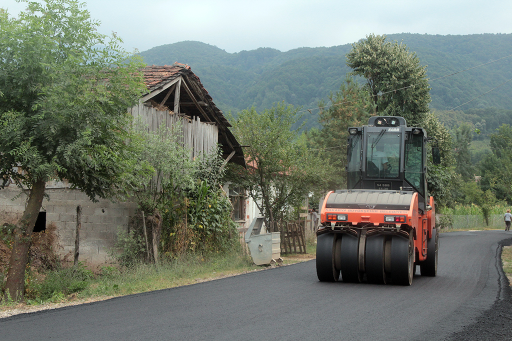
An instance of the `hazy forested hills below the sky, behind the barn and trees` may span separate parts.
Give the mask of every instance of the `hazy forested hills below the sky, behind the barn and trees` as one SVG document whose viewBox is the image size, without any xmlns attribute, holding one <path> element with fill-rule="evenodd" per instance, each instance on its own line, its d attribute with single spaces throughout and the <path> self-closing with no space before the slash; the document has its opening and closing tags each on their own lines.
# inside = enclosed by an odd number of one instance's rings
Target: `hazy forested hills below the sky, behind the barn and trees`
<svg viewBox="0 0 512 341">
<path fill-rule="evenodd" d="M 477 98 L 512 78 L 512 57 L 435 80 L 512 55 L 512 34 L 402 33 L 390 34 L 387 39 L 403 41 L 427 66 L 432 109 L 452 109 L 472 99 L 459 110 L 489 106 L 512 109 L 512 81 Z M 259 48 L 228 53 L 202 42 L 182 41 L 140 54 L 148 65 L 188 64 L 221 110 L 238 112 L 250 106 L 263 110 L 283 100 L 304 109 L 317 108 L 318 101 L 336 92 L 351 71 L 345 63 L 350 49 L 346 44 L 286 52 Z"/>
</svg>

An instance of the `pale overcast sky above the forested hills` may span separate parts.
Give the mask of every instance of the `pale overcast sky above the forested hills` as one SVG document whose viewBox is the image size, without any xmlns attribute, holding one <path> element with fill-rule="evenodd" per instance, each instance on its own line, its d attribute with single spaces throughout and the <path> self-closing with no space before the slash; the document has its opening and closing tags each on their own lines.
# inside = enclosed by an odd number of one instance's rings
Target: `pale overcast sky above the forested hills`
<svg viewBox="0 0 512 341">
<path fill-rule="evenodd" d="M 227 52 L 331 47 L 368 34 L 512 33 L 510 0 L 88 0 L 100 32 L 145 51 L 198 40 Z M 9 14 L 25 4 L 0 0 Z"/>
</svg>

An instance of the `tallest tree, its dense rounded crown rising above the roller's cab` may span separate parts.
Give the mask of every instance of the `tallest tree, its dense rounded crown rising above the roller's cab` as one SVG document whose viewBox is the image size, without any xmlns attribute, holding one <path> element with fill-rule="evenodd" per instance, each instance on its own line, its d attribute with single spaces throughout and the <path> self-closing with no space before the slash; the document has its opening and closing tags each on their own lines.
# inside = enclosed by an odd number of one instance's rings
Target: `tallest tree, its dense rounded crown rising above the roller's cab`
<svg viewBox="0 0 512 341">
<path fill-rule="evenodd" d="M 367 80 L 379 115 L 402 116 L 409 125 L 416 125 L 429 112 L 426 68 L 406 45 L 386 41 L 385 35 L 371 34 L 352 44 L 347 65 L 353 70 L 352 75 Z"/>
</svg>

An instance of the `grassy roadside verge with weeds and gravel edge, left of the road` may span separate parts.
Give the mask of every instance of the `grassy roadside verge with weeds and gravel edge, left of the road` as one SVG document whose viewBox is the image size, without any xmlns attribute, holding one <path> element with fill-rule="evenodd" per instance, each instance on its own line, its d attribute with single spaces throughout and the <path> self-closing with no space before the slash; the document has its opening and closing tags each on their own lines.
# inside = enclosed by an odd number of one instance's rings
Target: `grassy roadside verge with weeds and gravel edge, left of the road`
<svg viewBox="0 0 512 341">
<path fill-rule="evenodd" d="M 20 304 L 3 299 L 0 301 L 0 318 L 267 269 L 253 265 L 250 255 L 234 248 L 232 252 L 223 254 L 183 254 L 177 258 L 162 258 L 158 265 L 138 262 L 121 266 L 105 265 L 91 270 L 83 263 L 72 266 L 54 258 L 47 247 L 46 241 L 51 239 L 49 234 L 34 233 L 25 302 Z M 9 244 L 9 230 L 2 226 L 0 267 L 7 263 Z M 283 265 L 314 259 L 315 250 L 314 243 L 309 241 L 306 254 L 282 255 Z M 0 276 L 2 273 L 0 271 Z M 3 280 L 0 278 L 0 282 Z"/>
</svg>

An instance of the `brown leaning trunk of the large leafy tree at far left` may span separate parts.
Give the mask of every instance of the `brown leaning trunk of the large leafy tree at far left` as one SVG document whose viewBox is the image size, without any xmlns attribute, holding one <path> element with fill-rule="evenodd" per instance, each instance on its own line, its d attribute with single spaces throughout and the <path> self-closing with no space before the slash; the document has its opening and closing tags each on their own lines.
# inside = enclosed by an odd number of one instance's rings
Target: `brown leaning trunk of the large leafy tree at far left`
<svg viewBox="0 0 512 341">
<path fill-rule="evenodd" d="M 22 302 L 25 294 L 25 268 L 28 261 L 30 236 L 45 196 L 45 185 L 46 182 L 41 179 L 32 185 L 27 207 L 14 229 L 14 244 L 7 272 L 5 298 L 10 297 L 15 302 Z"/>
</svg>

